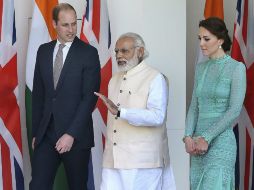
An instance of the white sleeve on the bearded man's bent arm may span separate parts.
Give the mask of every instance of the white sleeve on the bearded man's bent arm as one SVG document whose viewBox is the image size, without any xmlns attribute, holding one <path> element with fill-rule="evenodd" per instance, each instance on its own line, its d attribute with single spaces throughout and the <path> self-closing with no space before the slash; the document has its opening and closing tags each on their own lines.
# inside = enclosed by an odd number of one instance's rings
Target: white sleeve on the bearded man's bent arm
<svg viewBox="0 0 254 190">
<path fill-rule="evenodd" d="M 146 109 L 121 108 L 121 118 L 134 126 L 161 126 L 166 117 L 168 87 L 162 74 L 152 81 Z"/>
</svg>

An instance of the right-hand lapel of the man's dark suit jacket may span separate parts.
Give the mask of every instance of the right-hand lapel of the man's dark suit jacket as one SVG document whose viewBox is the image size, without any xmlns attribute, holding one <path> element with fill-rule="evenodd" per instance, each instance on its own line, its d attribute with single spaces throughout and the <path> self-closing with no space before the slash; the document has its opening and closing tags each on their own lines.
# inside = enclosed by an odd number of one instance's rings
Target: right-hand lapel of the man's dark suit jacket
<svg viewBox="0 0 254 190">
<path fill-rule="evenodd" d="M 64 61 L 64 65 L 63 65 L 63 69 L 61 71 L 57 86 L 56 86 L 56 91 L 59 90 L 59 88 L 61 87 L 63 81 L 64 81 L 64 76 L 66 75 L 66 72 L 68 71 L 68 68 L 70 67 L 70 65 L 72 64 L 72 61 L 74 60 L 73 57 L 75 57 L 75 49 L 78 43 L 78 37 L 75 37 L 73 40 L 73 43 L 71 44 L 71 47 L 68 51 L 68 54 L 66 56 L 66 59 Z"/>
</svg>

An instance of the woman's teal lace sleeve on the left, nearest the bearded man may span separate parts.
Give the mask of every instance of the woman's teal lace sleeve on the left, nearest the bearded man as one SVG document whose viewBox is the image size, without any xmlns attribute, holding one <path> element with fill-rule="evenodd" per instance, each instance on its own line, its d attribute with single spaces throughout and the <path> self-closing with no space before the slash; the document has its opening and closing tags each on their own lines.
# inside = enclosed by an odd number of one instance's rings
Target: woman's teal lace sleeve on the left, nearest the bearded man
<svg viewBox="0 0 254 190">
<path fill-rule="evenodd" d="M 196 95 L 197 88 L 197 69 L 198 65 L 195 69 L 195 77 L 194 77 L 194 86 L 191 98 L 191 104 L 188 110 L 187 118 L 186 118 L 186 127 L 185 127 L 185 136 L 192 136 L 198 120 L 198 99 Z"/>
</svg>

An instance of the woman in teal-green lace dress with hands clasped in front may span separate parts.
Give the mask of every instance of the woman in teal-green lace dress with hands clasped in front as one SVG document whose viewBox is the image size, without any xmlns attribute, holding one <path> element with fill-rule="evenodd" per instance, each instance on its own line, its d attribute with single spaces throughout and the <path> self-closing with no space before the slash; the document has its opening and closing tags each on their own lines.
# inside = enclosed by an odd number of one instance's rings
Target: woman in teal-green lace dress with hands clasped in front
<svg viewBox="0 0 254 190">
<path fill-rule="evenodd" d="M 196 65 L 183 139 L 191 156 L 191 190 L 234 190 L 237 146 L 232 124 L 243 105 L 246 68 L 225 53 L 231 40 L 223 20 L 200 21 L 198 36 L 209 59 Z"/>
</svg>

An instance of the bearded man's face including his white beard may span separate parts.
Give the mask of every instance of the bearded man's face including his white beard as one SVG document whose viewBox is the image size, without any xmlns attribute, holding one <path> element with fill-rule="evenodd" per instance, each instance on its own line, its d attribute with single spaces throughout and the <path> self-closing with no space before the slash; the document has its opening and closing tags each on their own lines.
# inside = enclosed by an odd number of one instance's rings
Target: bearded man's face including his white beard
<svg viewBox="0 0 254 190">
<path fill-rule="evenodd" d="M 121 38 L 116 42 L 116 61 L 120 71 L 129 71 L 139 64 L 137 48 L 134 40 L 129 37 Z"/>
</svg>

